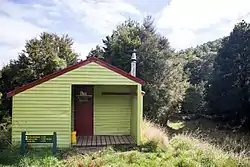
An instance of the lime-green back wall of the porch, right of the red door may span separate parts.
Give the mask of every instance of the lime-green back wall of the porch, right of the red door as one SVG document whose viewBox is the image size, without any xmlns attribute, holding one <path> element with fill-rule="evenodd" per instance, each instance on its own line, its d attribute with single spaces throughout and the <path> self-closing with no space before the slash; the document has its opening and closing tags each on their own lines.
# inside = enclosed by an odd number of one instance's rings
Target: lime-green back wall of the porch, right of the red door
<svg viewBox="0 0 250 167">
<path fill-rule="evenodd" d="M 130 135 L 131 96 L 102 92 L 130 93 L 130 86 L 94 86 L 94 134 Z"/>
</svg>

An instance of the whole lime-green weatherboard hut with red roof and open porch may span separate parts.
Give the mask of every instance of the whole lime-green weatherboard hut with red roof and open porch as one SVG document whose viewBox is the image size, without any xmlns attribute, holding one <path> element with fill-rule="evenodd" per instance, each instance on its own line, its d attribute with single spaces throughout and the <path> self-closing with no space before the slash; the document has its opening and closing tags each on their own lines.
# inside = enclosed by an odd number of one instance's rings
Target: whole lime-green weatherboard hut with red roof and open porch
<svg viewBox="0 0 250 167">
<path fill-rule="evenodd" d="M 12 97 L 12 143 L 21 132 L 57 133 L 58 147 L 141 141 L 144 81 L 97 58 L 89 58 L 8 93 Z"/>
</svg>

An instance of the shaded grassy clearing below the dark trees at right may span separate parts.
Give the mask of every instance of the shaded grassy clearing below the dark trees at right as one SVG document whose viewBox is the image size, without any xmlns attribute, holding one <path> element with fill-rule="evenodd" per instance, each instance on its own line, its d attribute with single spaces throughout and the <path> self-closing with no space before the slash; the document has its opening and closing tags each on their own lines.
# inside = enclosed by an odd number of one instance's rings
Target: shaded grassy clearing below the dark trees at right
<svg viewBox="0 0 250 167">
<path fill-rule="evenodd" d="M 188 121 L 172 120 L 168 122 L 168 126 L 175 129 L 174 135 L 183 133 L 192 134 L 192 136 L 216 145 L 224 151 L 234 153 L 244 152 L 250 156 L 249 133 L 222 130 L 219 128 L 219 124 L 206 119 Z"/>
</svg>

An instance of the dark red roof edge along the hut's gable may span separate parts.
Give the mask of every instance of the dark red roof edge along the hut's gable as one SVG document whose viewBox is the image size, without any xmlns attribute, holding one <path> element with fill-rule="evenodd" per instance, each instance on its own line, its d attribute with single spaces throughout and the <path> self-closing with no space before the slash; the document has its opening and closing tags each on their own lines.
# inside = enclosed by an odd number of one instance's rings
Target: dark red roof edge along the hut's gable
<svg viewBox="0 0 250 167">
<path fill-rule="evenodd" d="M 79 63 L 77 63 L 75 65 L 72 65 L 72 66 L 69 66 L 67 68 L 64 68 L 61 71 L 58 71 L 58 72 L 49 74 L 47 76 L 44 76 L 41 79 L 38 79 L 38 80 L 36 80 L 34 82 L 31 82 L 29 84 L 23 85 L 21 87 L 17 87 L 14 90 L 12 90 L 11 92 L 8 93 L 8 97 L 14 96 L 14 95 L 16 95 L 16 94 L 18 94 L 20 92 L 23 92 L 23 91 L 25 91 L 27 89 L 30 89 L 30 88 L 34 87 L 36 85 L 39 85 L 39 84 L 41 84 L 43 82 L 46 82 L 46 81 L 48 81 L 50 79 L 53 79 L 53 78 L 58 77 L 60 75 L 63 75 L 66 72 L 72 71 L 72 70 L 77 69 L 77 68 L 82 67 L 82 66 L 85 66 L 85 65 L 87 65 L 87 64 L 89 64 L 91 62 L 95 62 L 95 63 L 97 63 L 97 64 L 99 64 L 99 65 L 101 65 L 101 66 L 103 66 L 105 68 L 108 68 L 111 71 L 114 71 L 114 72 L 116 72 L 116 73 L 118 73 L 118 74 L 120 74 L 120 75 L 122 75 L 122 76 L 124 76 L 124 77 L 126 77 L 128 79 L 130 79 L 130 80 L 133 80 L 133 81 L 135 81 L 135 82 L 137 82 L 137 83 L 139 83 L 141 85 L 144 85 L 144 83 L 145 83 L 140 78 L 134 77 L 134 76 L 130 75 L 129 73 L 121 70 L 120 68 L 112 66 L 109 63 L 107 63 L 107 62 L 105 62 L 103 60 L 100 60 L 100 59 L 98 59 L 96 57 L 91 57 L 91 58 L 86 59 L 84 61 L 81 61 L 81 62 L 79 62 Z"/>
</svg>

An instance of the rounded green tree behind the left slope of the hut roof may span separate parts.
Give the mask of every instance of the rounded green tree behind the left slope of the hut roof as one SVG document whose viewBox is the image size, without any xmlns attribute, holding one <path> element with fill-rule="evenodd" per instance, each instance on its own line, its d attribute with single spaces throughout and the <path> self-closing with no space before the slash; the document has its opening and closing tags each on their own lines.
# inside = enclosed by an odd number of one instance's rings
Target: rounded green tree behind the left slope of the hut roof
<svg viewBox="0 0 250 167">
<path fill-rule="evenodd" d="M 77 62 L 77 54 L 72 51 L 73 41 L 68 35 L 42 33 L 40 38 L 29 40 L 25 50 L 19 55 L 19 64 L 34 69 L 35 78 L 48 75 Z M 24 62 L 22 62 L 24 61 Z"/>
</svg>

